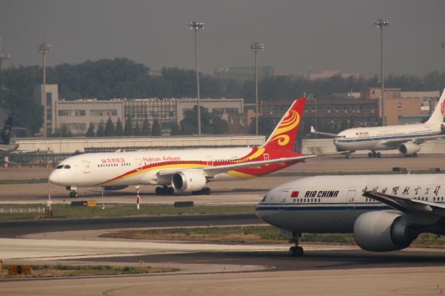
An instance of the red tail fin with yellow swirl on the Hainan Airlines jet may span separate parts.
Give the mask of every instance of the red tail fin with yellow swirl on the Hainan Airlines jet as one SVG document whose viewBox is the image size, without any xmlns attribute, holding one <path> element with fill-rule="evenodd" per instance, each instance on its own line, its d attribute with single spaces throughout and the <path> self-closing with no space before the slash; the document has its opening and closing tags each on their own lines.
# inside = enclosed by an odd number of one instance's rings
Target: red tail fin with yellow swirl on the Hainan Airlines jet
<svg viewBox="0 0 445 296">
<path fill-rule="evenodd" d="M 305 108 L 306 98 L 297 99 L 275 126 L 268 140 L 262 145 L 266 149 L 293 151 L 298 127 Z"/>
</svg>

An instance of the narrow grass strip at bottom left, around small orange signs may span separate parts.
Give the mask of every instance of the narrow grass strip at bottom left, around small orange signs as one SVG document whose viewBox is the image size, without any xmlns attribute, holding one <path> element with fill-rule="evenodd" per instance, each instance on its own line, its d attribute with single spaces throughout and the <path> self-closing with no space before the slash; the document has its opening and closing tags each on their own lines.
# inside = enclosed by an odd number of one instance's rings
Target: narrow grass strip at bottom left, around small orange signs
<svg viewBox="0 0 445 296">
<path fill-rule="evenodd" d="M 15 277 L 79 277 L 111 274 L 146 274 L 157 272 L 175 272 L 177 268 L 152 268 L 151 266 L 110 266 L 110 265 L 31 265 L 31 275 L 9 275 L 8 266 L 3 265 L 0 270 L 1 278 Z"/>
</svg>

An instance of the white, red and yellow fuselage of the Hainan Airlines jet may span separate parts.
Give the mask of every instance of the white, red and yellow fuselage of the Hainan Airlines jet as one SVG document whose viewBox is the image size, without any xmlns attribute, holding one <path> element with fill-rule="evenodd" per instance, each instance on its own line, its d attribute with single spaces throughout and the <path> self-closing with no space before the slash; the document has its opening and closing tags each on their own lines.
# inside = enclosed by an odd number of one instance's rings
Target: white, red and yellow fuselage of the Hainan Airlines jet
<svg viewBox="0 0 445 296">
<path fill-rule="evenodd" d="M 291 155 L 296 154 L 291 151 L 287 153 L 280 151 L 280 157 Z M 51 183 L 77 187 L 168 185 L 171 179 L 163 180 L 163 177 L 157 174 L 160 170 L 189 170 L 239 162 L 264 161 L 272 157 L 273 155 L 268 154 L 262 147 L 81 154 L 60 162 L 58 168 L 51 174 Z M 211 181 L 251 179 L 294 163 L 298 161 L 231 170 L 216 174 Z"/>
</svg>

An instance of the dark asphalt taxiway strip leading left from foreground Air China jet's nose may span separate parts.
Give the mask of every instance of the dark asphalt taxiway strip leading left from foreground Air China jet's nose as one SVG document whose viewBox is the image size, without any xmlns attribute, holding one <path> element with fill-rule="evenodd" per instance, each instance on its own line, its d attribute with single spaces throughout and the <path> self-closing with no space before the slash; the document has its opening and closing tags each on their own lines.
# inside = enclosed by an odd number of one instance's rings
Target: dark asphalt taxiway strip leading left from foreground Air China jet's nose
<svg viewBox="0 0 445 296">
<path fill-rule="evenodd" d="M 122 229 L 142 227 L 185 227 L 209 225 L 262 224 L 255 214 L 175 215 L 154 217 L 111 217 L 50 219 L 0 222 L 0 238 L 16 238 L 31 233 Z"/>
</svg>

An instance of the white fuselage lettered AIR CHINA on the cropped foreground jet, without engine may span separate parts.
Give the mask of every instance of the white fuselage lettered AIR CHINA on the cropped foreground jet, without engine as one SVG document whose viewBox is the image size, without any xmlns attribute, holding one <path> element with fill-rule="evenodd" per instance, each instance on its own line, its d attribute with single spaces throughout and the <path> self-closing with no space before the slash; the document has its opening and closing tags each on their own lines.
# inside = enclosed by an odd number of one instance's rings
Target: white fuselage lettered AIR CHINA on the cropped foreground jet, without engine
<svg viewBox="0 0 445 296">
<path fill-rule="evenodd" d="M 445 204 L 445 175 L 313 176 L 298 179 L 270 190 L 258 204 L 257 215 L 275 227 L 298 233 L 352 233 L 359 215 L 369 211 L 391 211 L 387 204 L 363 197 L 366 190 Z M 416 219 L 426 219 L 422 224 L 431 225 L 428 232 L 445 233 L 444 218 L 419 216 Z"/>
</svg>

